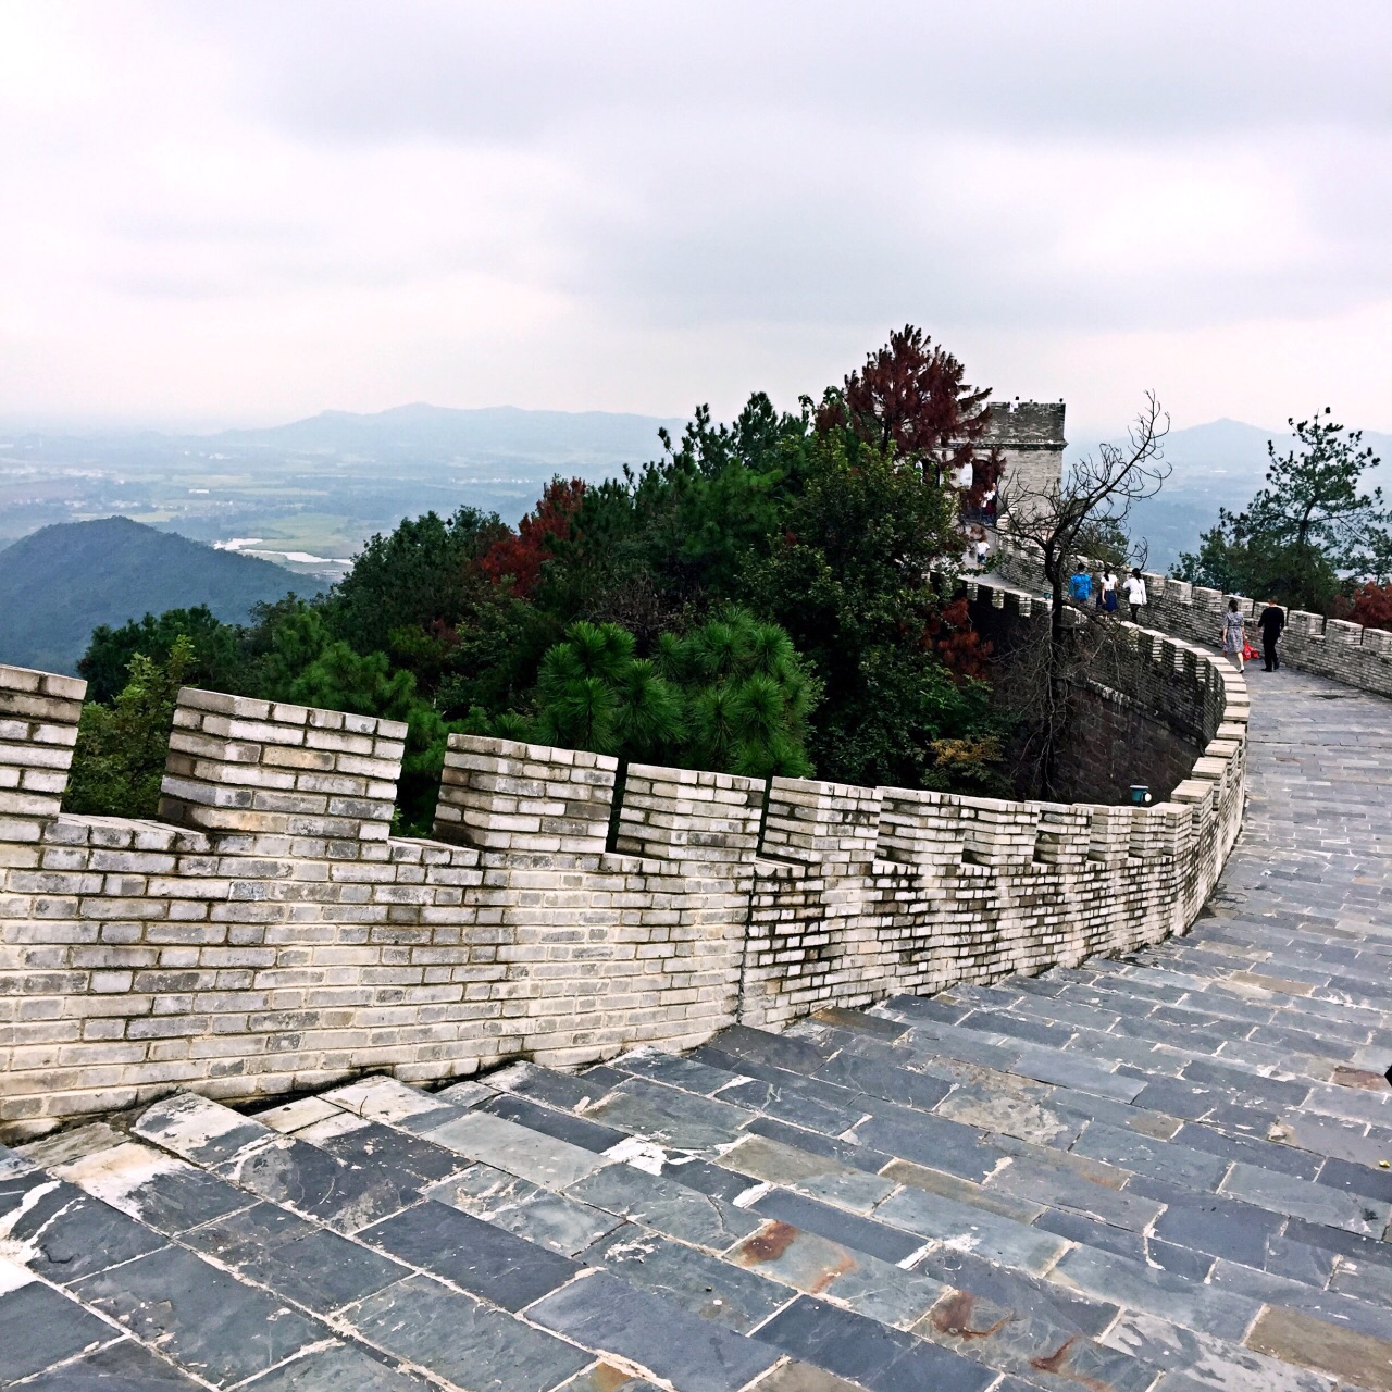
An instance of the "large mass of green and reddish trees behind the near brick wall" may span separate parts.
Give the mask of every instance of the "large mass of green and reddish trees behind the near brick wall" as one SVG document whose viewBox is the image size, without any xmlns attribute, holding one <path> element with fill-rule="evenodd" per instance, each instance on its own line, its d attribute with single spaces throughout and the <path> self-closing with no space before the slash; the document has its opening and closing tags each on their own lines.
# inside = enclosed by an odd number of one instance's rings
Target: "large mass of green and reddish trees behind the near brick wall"
<svg viewBox="0 0 1392 1392">
<path fill-rule="evenodd" d="M 408 519 L 320 600 L 99 629 L 81 671 L 118 709 L 127 671 L 148 682 L 178 651 L 214 689 L 405 720 L 411 830 L 452 729 L 981 789 L 999 757 L 984 651 L 931 574 L 956 565 L 984 398 L 906 329 L 798 413 L 763 394 L 728 425 L 697 408 L 658 459 L 555 479 L 516 529 L 468 507 Z"/>
</svg>

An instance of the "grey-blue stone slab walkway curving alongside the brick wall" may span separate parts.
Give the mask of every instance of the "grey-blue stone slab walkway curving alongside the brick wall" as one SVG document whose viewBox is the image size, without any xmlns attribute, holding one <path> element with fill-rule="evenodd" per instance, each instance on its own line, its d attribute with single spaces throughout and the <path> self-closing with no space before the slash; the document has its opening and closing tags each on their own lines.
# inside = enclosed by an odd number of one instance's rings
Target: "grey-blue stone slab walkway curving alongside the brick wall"
<svg viewBox="0 0 1392 1392">
<path fill-rule="evenodd" d="M 1392 706 L 1251 677 L 1185 940 L 0 1150 L 0 1384 L 1392 1389 Z"/>
</svg>

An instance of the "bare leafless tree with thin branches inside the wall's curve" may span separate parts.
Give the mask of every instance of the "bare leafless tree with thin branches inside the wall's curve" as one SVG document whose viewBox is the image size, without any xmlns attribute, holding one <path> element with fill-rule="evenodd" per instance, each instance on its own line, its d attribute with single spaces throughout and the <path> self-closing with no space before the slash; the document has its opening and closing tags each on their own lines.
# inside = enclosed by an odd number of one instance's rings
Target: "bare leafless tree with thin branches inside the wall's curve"
<svg viewBox="0 0 1392 1392">
<path fill-rule="evenodd" d="M 1100 624 L 1094 610 L 1069 603 L 1069 576 L 1079 561 L 1086 562 L 1082 551 L 1090 539 L 1125 537 L 1132 508 L 1164 486 L 1171 472 L 1164 461 L 1168 432 L 1169 416 L 1150 391 L 1125 445 L 1101 445 L 1096 458 L 1079 459 L 1047 487 L 1031 489 L 1008 476 L 998 489 L 997 525 L 1034 544 L 1048 585 L 1047 632 L 1016 654 L 1011 682 L 1022 722 L 1019 759 L 1027 781 L 1045 798 L 1059 795 L 1059 750 L 1077 692 L 1104 649 L 1115 646 L 1109 624 Z M 1143 555 L 1136 564 L 1144 564 Z"/>
</svg>

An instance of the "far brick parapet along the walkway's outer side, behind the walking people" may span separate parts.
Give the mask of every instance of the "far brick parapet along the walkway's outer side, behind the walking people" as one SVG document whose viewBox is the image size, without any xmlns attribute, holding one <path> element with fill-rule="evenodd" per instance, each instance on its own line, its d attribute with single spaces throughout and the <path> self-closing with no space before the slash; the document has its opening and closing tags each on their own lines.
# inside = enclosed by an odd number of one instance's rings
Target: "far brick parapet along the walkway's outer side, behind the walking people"
<svg viewBox="0 0 1392 1392">
<path fill-rule="evenodd" d="M 1034 593 L 1045 583 L 1037 550 L 1006 533 L 998 537 L 994 565 L 1008 580 Z M 1261 650 L 1256 619 L 1265 607 L 1263 599 L 1224 594 L 1168 575 L 1148 571 L 1143 574 L 1150 603 L 1141 618 L 1150 628 L 1217 651 L 1224 610 L 1231 599 L 1236 599 L 1237 607 L 1247 615 L 1249 642 Z M 1360 690 L 1392 696 L 1392 632 L 1386 629 L 1327 619 L 1304 610 L 1288 610 L 1286 631 L 1281 638 L 1281 661 L 1296 671 L 1331 677 Z"/>
</svg>

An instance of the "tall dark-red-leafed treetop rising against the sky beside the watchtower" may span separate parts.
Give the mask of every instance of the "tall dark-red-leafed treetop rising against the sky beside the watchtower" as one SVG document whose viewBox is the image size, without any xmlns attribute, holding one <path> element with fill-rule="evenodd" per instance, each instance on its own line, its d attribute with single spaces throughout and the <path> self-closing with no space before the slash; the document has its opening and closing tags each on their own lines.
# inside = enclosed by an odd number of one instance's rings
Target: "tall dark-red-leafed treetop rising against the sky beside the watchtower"
<svg viewBox="0 0 1392 1392">
<path fill-rule="evenodd" d="M 990 419 L 990 388 L 967 386 L 965 377 L 952 354 L 905 324 L 846 377 L 839 394 L 828 394 L 817 425 L 849 425 L 862 440 L 883 451 L 892 445 L 941 483 L 973 462 Z"/>
</svg>

